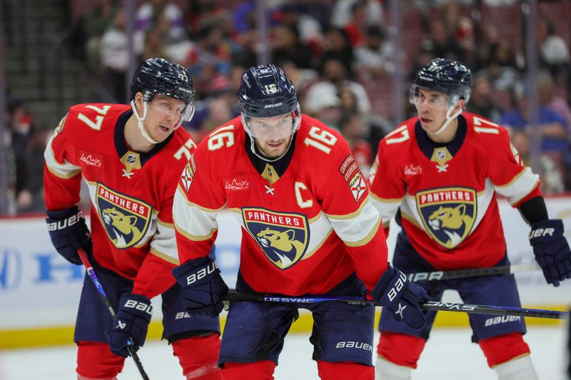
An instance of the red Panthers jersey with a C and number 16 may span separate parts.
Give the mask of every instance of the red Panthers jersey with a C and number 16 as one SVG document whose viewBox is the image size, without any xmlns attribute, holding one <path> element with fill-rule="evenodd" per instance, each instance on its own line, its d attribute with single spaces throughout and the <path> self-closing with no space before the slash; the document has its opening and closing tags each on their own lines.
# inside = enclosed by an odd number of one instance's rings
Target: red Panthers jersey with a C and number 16
<svg viewBox="0 0 571 380">
<path fill-rule="evenodd" d="M 323 294 L 353 272 L 372 289 L 387 247 L 345 140 L 302 115 L 288 168 L 272 178 L 254 168 L 246 138 L 241 119 L 230 120 L 183 170 L 173 205 L 181 263 L 210 252 L 227 205 L 242 227 L 240 272 L 256 292 Z"/>
</svg>

